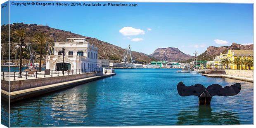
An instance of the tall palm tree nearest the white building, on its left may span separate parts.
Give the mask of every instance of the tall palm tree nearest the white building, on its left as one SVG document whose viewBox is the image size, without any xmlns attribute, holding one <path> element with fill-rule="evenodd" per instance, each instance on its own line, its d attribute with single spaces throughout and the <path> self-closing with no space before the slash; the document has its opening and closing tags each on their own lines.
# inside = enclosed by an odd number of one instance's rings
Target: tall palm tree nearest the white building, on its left
<svg viewBox="0 0 256 128">
<path fill-rule="evenodd" d="M 42 52 L 43 52 L 43 46 L 45 46 L 47 42 L 47 35 L 46 33 L 36 33 L 34 35 L 33 41 L 38 44 L 38 48 L 40 50 L 40 60 L 39 60 L 39 71 L 41 72 L 41 64 L 42 64 Z"/>
</svg>

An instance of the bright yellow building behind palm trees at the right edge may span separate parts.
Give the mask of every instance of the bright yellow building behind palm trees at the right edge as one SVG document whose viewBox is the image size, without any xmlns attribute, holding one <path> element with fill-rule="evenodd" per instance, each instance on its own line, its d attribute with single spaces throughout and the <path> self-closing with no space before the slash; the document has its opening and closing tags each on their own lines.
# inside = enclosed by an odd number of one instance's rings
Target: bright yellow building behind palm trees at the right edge
<svg viewBox="0 0 256 128">
<path fill-rule="evenodd" d="M 228 67 L 230 67 L 231 69 L 237 69 L 237 65 L 234 65 L 234 59 L 237 58 L 238 56 L 240 56 L 242 59 L 244 58 L 248 58 L 248 59 L 253 59 L 254 57 L 254 51 L 253 50 L 228 50 L 228 54 L 227 57 L 232 61 L 232 63 L 230 63 L 230 65 L 228 65 Z M 243 65 L 243 69 L 245 69 L 246 65 Z M 241 69 L 241 65 L 239 66 Z M 246 69 L 248 69 L 249 67 L 247 66 Z M 254 67 L 253 65 L 251 66 L 251 70 L 253 70 Z"/>
</svg>

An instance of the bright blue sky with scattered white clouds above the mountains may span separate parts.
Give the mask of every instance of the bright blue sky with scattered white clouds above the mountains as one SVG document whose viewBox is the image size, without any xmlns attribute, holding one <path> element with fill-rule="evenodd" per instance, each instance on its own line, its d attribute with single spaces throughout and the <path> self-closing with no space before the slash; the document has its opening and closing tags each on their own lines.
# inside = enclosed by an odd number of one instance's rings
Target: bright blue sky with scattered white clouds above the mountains
<svg viewBox="0 0 256 128">
<path fill-rule="evenodd" d="M 209 46 L 253 43 L 253 4 L 128 4 L 138 6 L 11 5 L 10 23 L 47 23 L 52 28 L 94 37 L 122 48 L 130 44 L 133 51 L 145 54 L 152 54 L 159 47 L 177 47 L 193 55 L 195 50 L 201 54 Z"/>
</svg>

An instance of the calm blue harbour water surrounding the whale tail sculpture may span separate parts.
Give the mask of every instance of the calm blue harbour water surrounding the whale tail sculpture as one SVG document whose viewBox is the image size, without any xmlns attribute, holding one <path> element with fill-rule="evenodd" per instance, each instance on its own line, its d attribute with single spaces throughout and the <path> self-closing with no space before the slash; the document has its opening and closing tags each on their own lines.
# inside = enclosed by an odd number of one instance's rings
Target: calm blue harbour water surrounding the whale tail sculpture
<svg viewBox="0 0 256 128">
<path fill-rule="evenodd" d="M 175 71 L 118 69 L 113 77 L 17 102 L 10 109 L 11 127 L 253 124 L 253 83 Z M 178 95 L 179 81 L 187 86 L 240 82 L 242 90 L 199 106 L 196 96 Z M 3 104 L 1 111 L 6 113 Z"/>
</svg>

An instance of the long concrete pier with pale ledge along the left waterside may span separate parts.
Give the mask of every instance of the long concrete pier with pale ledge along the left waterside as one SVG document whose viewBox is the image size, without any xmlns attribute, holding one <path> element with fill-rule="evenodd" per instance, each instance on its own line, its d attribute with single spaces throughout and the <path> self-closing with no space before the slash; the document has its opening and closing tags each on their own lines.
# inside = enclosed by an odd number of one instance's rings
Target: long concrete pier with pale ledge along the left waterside
<svg viewBox="0 0 256 128">
<path fill-rule="evenodd" d="M 62 77 L 55 77 L 55 79 L 52 77 L 51 78 L 41 78 L 40 81 L 43 81 L 42 83 L 48 83 L 48 84 L 39 84 L 36 83 L 36 81 L 34 81 L 34 84 L 31 84 L 30 82 L 32 82 L 32 79 L 30 79 L 30 81 L 26 80 L 26 82 L 24 81 L 10 81 L 10 92 L 8 91 L 9 89 L 7 88 L 7 86 L 5 85 L 5 88 L 2 88 L 3 86 L 1 86 L 1 96 L 2 98 L 4 98 L 3 100 L 8 100 L 10 99 L 10 102 L 15 102 L 18 100 L 23 100 L 26 98 L 32 98 L 38 95 L 42 95 L 45 93 L 50 93 L 53 91 L 58 91 L 61 90 L 63 88 L 69 88 L 72 86 L 77 86 L 80 84 L 85 84 L 87 82 L 90 81 L 95 81 L 98 79 L 103 79 L 106 77 L 111 77 L 116 75 L 116 73 L 109 73 L 109 74 L 105 74 L 105 75 L 101 75 L 101 76 L 95 76 L 95 74 L 74 74 L 74 75 L 69 75 L 66 76 L 69 78 L 72 78 L 73 80 L 67 79 L 68 81 L 65 81 L 64 78 L 65 76 Z M 83 78 L 84 77 L 84 78 Z M 60 79 L 62 79 L 62 81 L 59 82 Z M 76 78 L 76 79 L 74 79 Z M 34 80 L 38 80 L 38 79 L 34 79 Z M 9 83 L 9 81 L 3 81 L 1 80 L 1 84 L 4 84 L 4 82 L 7 84 Z M 45 82 L 44 82 L 45 81 Z M 47 82 L 48 81 L 48 82 Z M 11 82 L 17 82 L 17 85 L 13 85 L 11 84 Z M 39 81 L 37 81 L 39 82 Z M 24 85 L 30 85 L 30 86 L 22 86 L 22 84 Z M 25 83 L 30 83 L 30 84 L 25 84 Z M 49 83 L 53 83 L 53 84 L 49 84 Z M 31 85 L 34 85 L 31 87 Z M 14 86 L 19 86 L 17 88 L 14 88 Z"/>
</svg>

